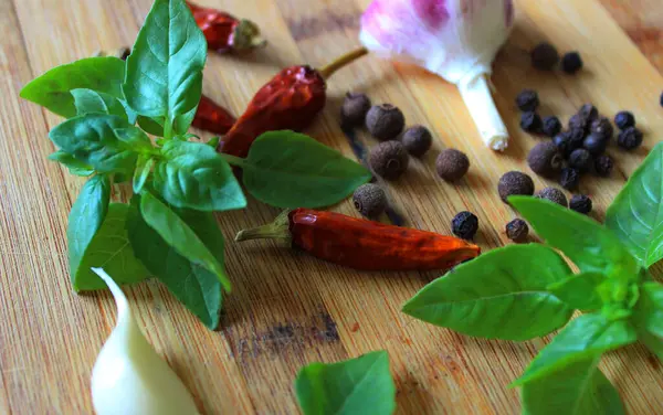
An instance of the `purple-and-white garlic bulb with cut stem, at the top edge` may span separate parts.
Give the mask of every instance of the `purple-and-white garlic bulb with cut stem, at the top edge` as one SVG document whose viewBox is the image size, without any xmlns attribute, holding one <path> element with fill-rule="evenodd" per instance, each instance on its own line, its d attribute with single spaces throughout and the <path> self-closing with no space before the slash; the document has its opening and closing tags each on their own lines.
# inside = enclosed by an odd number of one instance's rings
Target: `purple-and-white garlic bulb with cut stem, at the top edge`
<svg viewBox="0 0 663 415">
<path fill-rule="evenodd" d="M 456 84 L 483 140 L 503 150 L 508 132 L 488 77 L 513 21 L 513 0 L 373 0 L 361 15 L 359 39 L 371 52 Z"/>
</svg>

